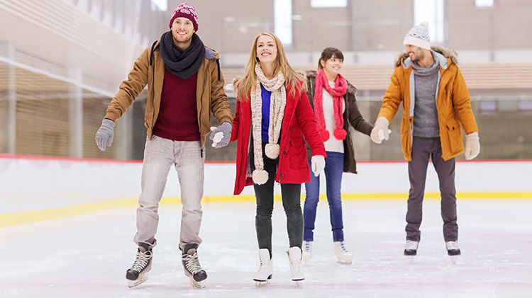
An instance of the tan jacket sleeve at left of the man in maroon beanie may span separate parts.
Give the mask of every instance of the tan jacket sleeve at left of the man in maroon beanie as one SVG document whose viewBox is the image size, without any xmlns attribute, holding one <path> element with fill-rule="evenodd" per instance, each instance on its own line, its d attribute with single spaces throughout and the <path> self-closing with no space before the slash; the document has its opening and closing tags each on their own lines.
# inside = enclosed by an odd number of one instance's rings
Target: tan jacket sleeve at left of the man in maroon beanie
<svg viewBox="0 0 532 298">
<path fill-rule="evenodd" d="M 135 98 L 148 84 L 148 69 L 150 61 L 150 47 L 146 48 L 133 64 L 129 71 L 128 79 L 120 84 L 118 92 L 107 107 L 106 119 L 116 122 L 121 118 L 126 109 L 135 101 Z"/>
</svg>

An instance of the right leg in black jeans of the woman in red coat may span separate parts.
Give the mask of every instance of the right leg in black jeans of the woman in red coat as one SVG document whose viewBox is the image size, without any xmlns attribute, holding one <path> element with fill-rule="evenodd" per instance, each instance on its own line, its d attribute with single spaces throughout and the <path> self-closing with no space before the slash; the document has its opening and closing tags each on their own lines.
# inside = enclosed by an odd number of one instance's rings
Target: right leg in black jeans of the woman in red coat
<svg viewBox="0 0 532 298">
<path fill-rule="evenodd" d="M 282 206 L 287 214 L 290 247 L 303 244 L 303 213 L 301 212 L 301 184 L 281 184 Z"/>
</svg>

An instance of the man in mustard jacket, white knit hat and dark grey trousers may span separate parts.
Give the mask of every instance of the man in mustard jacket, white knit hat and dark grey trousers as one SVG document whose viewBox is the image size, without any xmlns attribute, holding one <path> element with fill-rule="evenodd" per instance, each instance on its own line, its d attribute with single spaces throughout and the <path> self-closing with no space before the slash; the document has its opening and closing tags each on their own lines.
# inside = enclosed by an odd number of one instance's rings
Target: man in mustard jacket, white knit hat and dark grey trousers
<svg viewBox="0 0 532 298">
<path fill-rule="evenodd" d="M 402 105 L 401 146 L 410 178 L 404 254 L 417 253 L 426 171 L 432 158 L 440 182 L 443 237 L 449 256 L 458 256 L 455 156 L 465 152 L 469 160 L 479 154 L 477 122 L 455 52 L 431 47 L 426 22 L 409 31 L 404 45 L 406 51 L 396 62 L 371 139 L 377 144 L 388 139 L 389 122 Z M 460 125 L 466 134 L 465 149 Z"/>
</svg>

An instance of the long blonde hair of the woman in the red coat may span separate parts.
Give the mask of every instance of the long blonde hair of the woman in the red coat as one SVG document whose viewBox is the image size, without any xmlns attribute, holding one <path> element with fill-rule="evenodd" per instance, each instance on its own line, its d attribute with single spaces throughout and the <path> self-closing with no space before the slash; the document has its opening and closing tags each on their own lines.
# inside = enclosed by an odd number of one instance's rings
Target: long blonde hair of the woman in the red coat
<svg viewBox="0 0 532 298">
<path fill-rule="evenodd" d="M 273 75 L 277 76 L 279 71 L 282 72 L 285 86 L 289 86 L 289 90 L 287 90 L 287 92 L 290 96 L 294 96 L 296 91 L 306 90 L 305 76 L 297 73 L 297 71 L 290 66 L 287 55 L 284 53 L 284 47 L 282 46 L 281 40 L 279 40 L 275 34 L 265 31 L 257 35 L 255 41 L 253 41 L 250 57 L 248 58 L 248 63 L 245 65 L 244 76 L 233 82 L 233 88 L 238 100 L 249 98 L 248 94 L 250 91 L 255 91 L 257 88 L 260 88 L 260 86 L 257 86 L 257 74 L 255 74 L 255 66 L 257 63 L 260 63 L 257 57 L 257 42 L 262 35 L 270 36 L 270 38 L 275 40 L 275 45 L 277 45 L 277 57 L 275 58 Z"/>
</svg>

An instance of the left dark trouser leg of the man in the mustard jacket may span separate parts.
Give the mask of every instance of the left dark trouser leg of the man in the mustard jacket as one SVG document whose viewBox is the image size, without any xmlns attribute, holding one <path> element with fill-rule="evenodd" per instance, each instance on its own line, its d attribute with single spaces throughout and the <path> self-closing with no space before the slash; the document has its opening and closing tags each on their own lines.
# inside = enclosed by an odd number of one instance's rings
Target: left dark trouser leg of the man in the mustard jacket
<svg viewBox="0 0 532 298">
<path fill-rule="evenodd" d="M 431 139 L 414 137 L 412 157 L 409 161 L 410 192 L 406 211 L 406 240 L 419 241 L 421 218 L 423 212 L 423 195 L 430 157 Z"/>
</svg>

